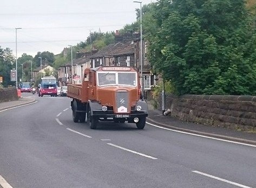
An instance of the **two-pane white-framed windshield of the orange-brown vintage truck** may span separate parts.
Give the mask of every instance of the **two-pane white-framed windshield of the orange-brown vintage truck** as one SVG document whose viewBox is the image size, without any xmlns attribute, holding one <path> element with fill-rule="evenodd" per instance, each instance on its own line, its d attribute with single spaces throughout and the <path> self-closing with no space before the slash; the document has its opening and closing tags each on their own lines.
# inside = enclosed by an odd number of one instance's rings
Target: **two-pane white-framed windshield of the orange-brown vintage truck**
<svg viewBox="0 0 256 188">
<path fill-rule="evenodd" d="M 136 73 L 127 72 L 105 72 L 97 73 L 98 85 L 126 85 L 136 86 Z"/>
</svg>

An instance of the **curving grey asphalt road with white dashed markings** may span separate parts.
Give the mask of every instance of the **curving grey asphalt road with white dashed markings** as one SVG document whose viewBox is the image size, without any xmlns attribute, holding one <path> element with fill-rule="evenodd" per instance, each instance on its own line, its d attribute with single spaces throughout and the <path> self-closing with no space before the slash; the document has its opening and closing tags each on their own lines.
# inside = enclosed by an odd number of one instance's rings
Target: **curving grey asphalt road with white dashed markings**
<svg viewBox="0 0 256 188">
<path fill-rule="evenodd" d="M 69 98 L 23 96 L 37 102 L 0 112 L 2 186 L 256 187 L 253 146 L 149 124 L 91 130 L 73 122 Z"/>
</svg>

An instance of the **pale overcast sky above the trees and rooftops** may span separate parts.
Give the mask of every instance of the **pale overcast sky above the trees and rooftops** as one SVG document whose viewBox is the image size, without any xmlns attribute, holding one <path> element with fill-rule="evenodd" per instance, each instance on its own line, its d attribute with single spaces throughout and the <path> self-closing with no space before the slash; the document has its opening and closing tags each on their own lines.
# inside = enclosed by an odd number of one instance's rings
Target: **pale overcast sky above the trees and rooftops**
<svg viewBox="0 0 256 188">
<path fill-rule="evenodd" d="M 143 0 L 143 4 L 156 0 Z M 91 32 L 116 31 L 136 20 L 133 0 L 1 0 L 0 46 L 17 54 L 49 51 L 85 41 Z"/>
</svg>

